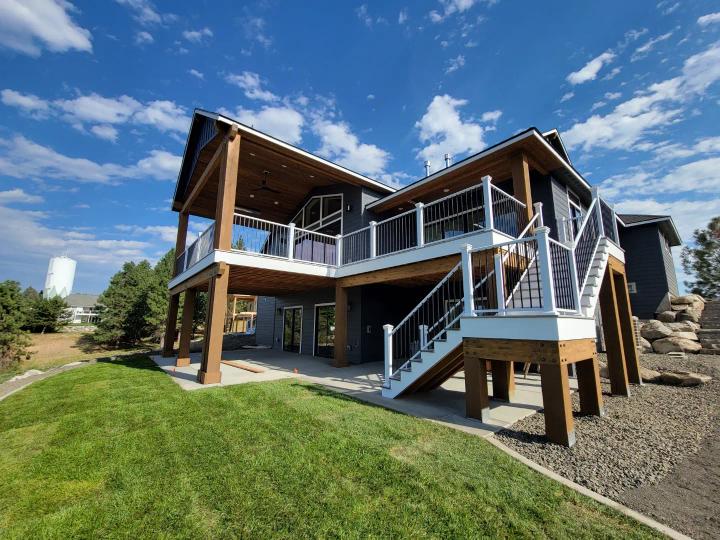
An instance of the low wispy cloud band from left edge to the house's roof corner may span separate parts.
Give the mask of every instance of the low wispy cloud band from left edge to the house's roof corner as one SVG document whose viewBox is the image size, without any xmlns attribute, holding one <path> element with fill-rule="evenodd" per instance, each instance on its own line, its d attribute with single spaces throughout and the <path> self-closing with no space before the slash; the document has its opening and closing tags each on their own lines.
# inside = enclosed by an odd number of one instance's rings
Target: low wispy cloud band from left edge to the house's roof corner
<svg viewBox="0 0 720 540">
<path fill-rule="evenodd" d="M 0 139 L 0 170 L 5 176 L 19 179 L 56 179 L 103 184 L 146 177 L 175 180 L 181 159 L 180 156 L 162 150 L 153 150 L 148 157 L 133 165 L 97 163 L 85 158 L 66 156 L 22 135 L 16 135 L 9 140 Z"/>
</svg>

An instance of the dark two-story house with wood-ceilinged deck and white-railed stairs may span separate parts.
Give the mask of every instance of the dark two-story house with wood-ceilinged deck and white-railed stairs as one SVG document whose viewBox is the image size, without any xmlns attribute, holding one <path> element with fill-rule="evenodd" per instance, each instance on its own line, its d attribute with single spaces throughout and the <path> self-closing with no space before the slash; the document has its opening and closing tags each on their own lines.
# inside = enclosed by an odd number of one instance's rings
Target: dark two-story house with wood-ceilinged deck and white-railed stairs
<svg viewBox="0 0 720 540">
<path fill-rule="evenodd" d="M 529 128 L 395 189 L 219 114 L 196 110 L 172 209 L 175 275 L 163 354 L 189 364 L 208 292 L 198 380 L 220 381 L 228 294 L 257 295 L 257 339 L 341 369 L 382 360 L 388 399 L 464 370 L 467 415 L 511 400 L 514 363 L 541 364 L 546 433 L 572 445 L 568 366 L 581 410 L 603 414 L 595 308 L 612 392 L 640 383 L 625 253 L 612 206 L 557 131 Z M 186 245 L 189 216 L 212 220 Z M 327 360 L 328 358 L 329 360 Z"/>
</svg>

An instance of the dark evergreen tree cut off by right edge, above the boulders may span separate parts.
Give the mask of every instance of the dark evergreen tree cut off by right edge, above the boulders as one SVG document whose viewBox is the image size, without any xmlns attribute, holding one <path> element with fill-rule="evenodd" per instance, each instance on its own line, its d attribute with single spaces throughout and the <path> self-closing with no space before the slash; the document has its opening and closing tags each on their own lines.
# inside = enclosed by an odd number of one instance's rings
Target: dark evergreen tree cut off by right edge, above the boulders
<svg viewBox="0 0 720 540">
<path fill-rule="evenodd" d="M 694 246 L 682 252 L 683 269 L 694 281 L 685 286 L 705 298 L 720 298 L 720 216 L 693 233 Z"/>
</svg>

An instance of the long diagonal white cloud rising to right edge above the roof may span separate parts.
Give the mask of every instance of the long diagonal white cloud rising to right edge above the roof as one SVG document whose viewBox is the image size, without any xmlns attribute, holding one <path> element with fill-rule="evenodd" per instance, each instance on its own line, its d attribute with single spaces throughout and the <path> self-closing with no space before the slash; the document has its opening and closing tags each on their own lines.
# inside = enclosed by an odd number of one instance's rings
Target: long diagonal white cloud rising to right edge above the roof
<svg viewBox="0 0 720 540">
<path fill-rule="evenodd" d="M 605 116 L 593 115 L 565 132 L 570 148 L 643 149 L 646 135 L 678 121 L 685 104 L 720 79 L 720 43 L 685 60 L 678 77 L 651 84 Z"/>
</svg>

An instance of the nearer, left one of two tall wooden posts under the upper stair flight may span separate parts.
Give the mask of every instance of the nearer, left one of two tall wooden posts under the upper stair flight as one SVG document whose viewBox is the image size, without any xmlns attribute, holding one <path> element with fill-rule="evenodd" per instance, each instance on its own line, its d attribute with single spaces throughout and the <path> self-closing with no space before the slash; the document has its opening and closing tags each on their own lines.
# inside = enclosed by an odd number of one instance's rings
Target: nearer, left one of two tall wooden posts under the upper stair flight
<svg viewBox="0 0 720 540">
<path fill-rule="evenodd" d="M 600 286 L 600 313 L 605 335 L 605 348 L 607 349 L 608 375 L 610 376 L 610 391 L 621 396 L 630 395 L 627 370 L 625 368 L 625 346 L 623 344 L 620 316 L 615 294 L 615 280 L 612 278 L 612 269 L 605 269 L 603 282 Z"/>
</svg>

